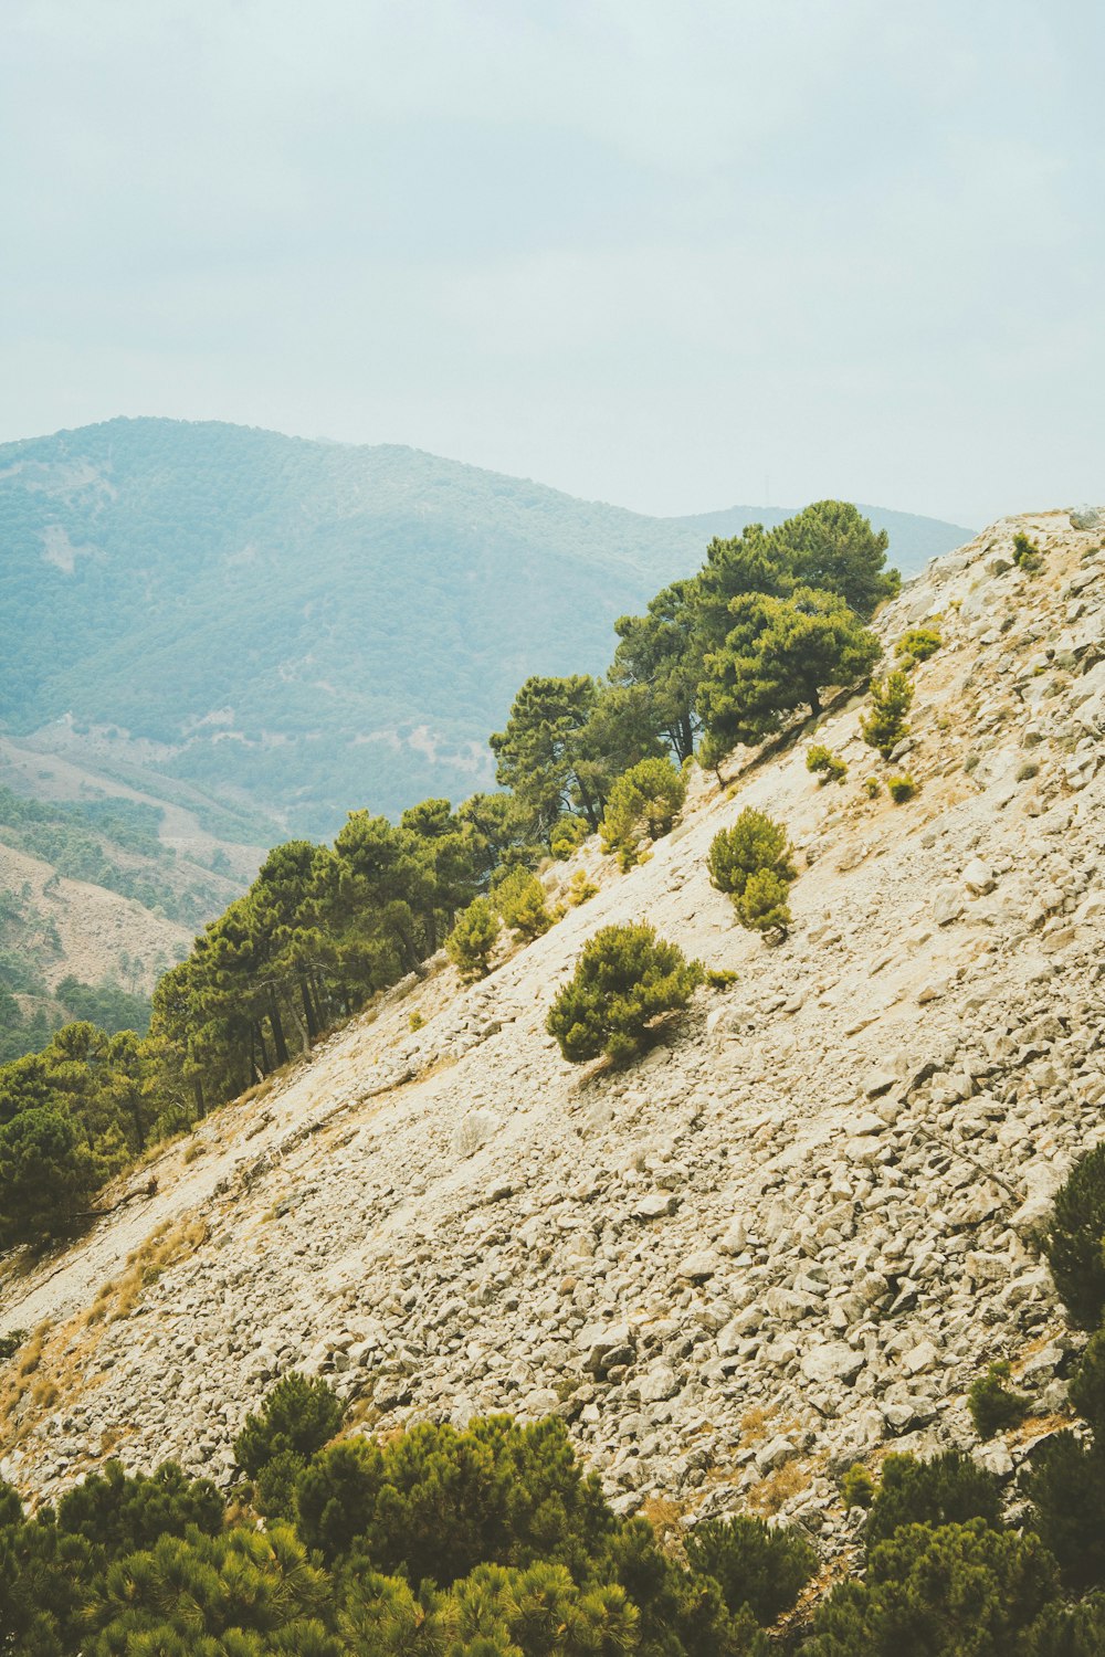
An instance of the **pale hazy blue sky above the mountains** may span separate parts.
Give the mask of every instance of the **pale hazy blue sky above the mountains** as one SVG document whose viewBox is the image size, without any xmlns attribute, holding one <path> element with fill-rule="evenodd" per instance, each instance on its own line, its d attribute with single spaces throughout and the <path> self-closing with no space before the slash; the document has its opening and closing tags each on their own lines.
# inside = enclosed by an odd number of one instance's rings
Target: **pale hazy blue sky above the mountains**
<svg viewBox="0 0 1105 1657">
<path fill-rule="evenodd" d="M 1105 500 L 1095 0 L 3 0 L 0 439 Z"/>
</svg>

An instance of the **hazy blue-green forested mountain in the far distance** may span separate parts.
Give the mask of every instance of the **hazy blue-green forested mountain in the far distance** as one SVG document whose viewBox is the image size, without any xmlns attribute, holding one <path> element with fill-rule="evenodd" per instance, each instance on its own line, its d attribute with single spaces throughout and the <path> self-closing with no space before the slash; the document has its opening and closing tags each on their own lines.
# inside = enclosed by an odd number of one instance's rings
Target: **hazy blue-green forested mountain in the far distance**
<svg viewBox="0 0 1105 1657">
<path fill-rule="evenodd" d="M 527 674 L 605 669 L 613 620 L 712 534 L 414 449 L 116 419 L 0 447 L 0 721 L 224 838 L 326 837 L 494 785 Z M 969 530 L 871 509 L 906 570 Z"/>
</svg>

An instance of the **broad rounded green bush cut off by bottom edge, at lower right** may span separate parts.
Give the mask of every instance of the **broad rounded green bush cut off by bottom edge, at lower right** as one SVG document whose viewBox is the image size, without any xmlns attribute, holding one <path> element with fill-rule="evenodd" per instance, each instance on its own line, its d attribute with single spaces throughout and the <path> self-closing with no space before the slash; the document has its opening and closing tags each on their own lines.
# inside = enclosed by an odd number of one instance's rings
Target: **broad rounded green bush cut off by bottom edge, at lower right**
<svg viewBox="0 0 1105 1657">
<path fill-rule="evenodd" d="M 1057 1599 L 1055 1563 L 1035 1538 L 982 1519 L 908 1524 L 868 1554 L 817 1612 L 803 1657 L 1011 1657 Z"/>
</svg>

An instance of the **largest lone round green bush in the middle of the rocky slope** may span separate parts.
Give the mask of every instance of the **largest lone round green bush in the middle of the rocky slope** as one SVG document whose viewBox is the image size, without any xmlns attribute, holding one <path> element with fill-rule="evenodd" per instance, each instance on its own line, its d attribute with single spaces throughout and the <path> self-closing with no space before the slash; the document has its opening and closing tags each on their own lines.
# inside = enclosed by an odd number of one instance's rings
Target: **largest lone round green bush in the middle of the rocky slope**
<svg viewBox="0 0 1105 1657">
<path fill-rule="evenodd" d="M 545 1027 L 573 1064 L 600 1052 L 623 1064 L 639 1052 L 653 1019 L 686 1007 L 702 979 L 701 964 L 646 923 L 603 926 L 585 944 Z"/>
</svg>

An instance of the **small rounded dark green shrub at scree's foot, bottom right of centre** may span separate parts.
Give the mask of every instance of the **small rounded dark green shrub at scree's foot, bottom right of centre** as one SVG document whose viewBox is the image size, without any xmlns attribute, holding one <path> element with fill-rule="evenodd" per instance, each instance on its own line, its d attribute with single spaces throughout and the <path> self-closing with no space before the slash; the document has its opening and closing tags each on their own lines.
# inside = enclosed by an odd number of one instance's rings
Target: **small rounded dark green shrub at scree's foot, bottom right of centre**
<svg viewBox="0 0 1105 1657">
<path fill-rule="evenodd" d="M 686 1548 L 694 1569 L 721 1586 L 729 1611 L 747 1606 L 762 1624 L 790 1611 L 817 1571 L 817 1554 L 797 1531 L 746 1514 L 696 1524 Z"/>
</svg>

